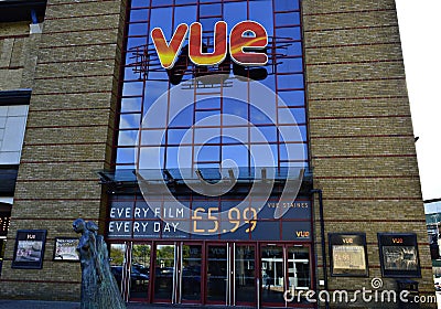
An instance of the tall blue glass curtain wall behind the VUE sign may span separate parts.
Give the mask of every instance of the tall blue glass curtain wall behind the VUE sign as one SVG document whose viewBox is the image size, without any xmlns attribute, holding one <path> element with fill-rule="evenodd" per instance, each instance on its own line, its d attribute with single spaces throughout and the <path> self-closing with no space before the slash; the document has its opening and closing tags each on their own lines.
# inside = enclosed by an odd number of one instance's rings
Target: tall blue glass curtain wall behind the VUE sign
<svg viewBox="0 0 441 309">
<path fill-rule="evenodd" d="M 300 166 L 308 167 L 308 138 L 306 116 L 304 100 L 304 76 L 302 57 L 301 13 L 299 0 L 132 0 L 130 17 L 127 24 L 127 47 L 123 51 L 123 81 L 120 96 L 119 127 L 117 128 L 116 169 L 135 169 L 136 151 L 148 153 L 146 140 L 151 140 L 158 135 L 163 135 L 161 148 L 161 168 L 173 169 L 178 167 L 178 150 L 189 151 L 191 163 L 197 168 L 218 168 L 227 159 L 234 160 L 239 167 L 252 166 L 252 158 L 248 149 L 257 147 L 261 140 L 249 134 L 249 125 L 229 124 L 222 120 L 209 126 L 197 126 L 204 118 L 215 115 L 235 115 L 256 126 L 270 145 L 276 167 Z M 191 62 L 181 65 L 176 71 L 182 74 L 182 79 L 176 82 L 169 78 L 159 62 L 158 54 L 152 44 L 150 32 L 153 28 L 161 28 L 166 40 L 172 38 L 180 23 L 191 24 L 200 22 L 203 28 L 203 43 L 207 52 L 213 51 L 214 25 L 217 21 L 226 21 L 227 33 L 240 21 L 252 20 L 259 22 L 268 33 L 266 53 L 268 63 L 263 67 L 241 67 L 233 62 L 219 66 L 196 67 Z M 186 39 L 183 44 L 185 56 Z M 179 62 L 179 61 L 178 61 Z M 263 68 L 265 72 L 261 71 Z M 256 71 L 257 70 L 257 71 Z M 260 71 L 259 71 L 260 70 Z M 154 129 L 142 131 L 138 136 L 140 124 L 147 110 L 153 103 L 174 84 L 182 86 L 186 81 L 204 74 L 224 73 L 240 75 L 243 83 L 248 83 L 247 77 L 259 79 L 260 83 L 272 89 L 286 103 L 279 106 L 276 95 L 267 98 L 269 105 L 277 110 L 276 121 L 268 119 L 259 109 L 247 102 L 237 102 L 223 98 L 222 89 L 218 97 L 203 99 L 198 97 L 195 103 L 182 110 L 175 118 L 169 119 L 168 111 L 173 108 L 172 98 L 168 100 L 166 113 L 155 115 L 162 122 Z M 256 73 L 257 72 L 257 73 Z M 178 74 L 178 75 L 179 75 Z M 180 77 L 181 78 L 181 77 Z M 283 110 L 282 110 L 283 109 Z M 294 116 L 295 121 L 284 120 L 279 117 L 287 109 Z M 195 125 L 196 124 L 196 125 Z M 301 140 L 282 140 L 280 132 L 298 126 Z M 184 135 L 191 130 L 191 141 L 183 145 Z M 238 141 L 227 136 L 235 130 L 236 136 L 244 136 Z M 206 140 L 206 136 L 217 136 Z M 137 149 L 140 141 L 140 149 Z M 286 143 L 302 143 L 305 159 L 298 162 L 289 158 Z M 195 156 L 197 149 L 197 156 Z"/>
</svg>

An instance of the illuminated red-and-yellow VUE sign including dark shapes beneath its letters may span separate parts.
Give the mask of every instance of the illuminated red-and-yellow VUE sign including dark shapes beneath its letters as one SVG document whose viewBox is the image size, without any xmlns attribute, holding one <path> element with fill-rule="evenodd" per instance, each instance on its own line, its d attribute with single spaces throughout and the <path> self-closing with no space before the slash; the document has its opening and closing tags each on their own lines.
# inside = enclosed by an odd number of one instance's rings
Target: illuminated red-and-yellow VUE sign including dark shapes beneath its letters
<svg viewBox="0 0 441 309">
<path fill-rule="evenodd" d="M 189 35 L 189 44 L 184 41 Z M 213 51 L 208 52 L 202 40 L 202 24 L 194 22 L 190 25 L 181 23 L 174 31 L 171 40 L 165 40 L 162 29 L 151 31 L 154 49 L 161 66 L 168 70 L 170 82 L 179 84 L 189 66 L 189 60 L 196 66 L 205 67 L 200 74 L 207 73 L 206 66 L 218 65 L 220 72 L 228 71 L 233 61 L 233 71 L 236 75 L 249 76 L 252 79 L 267 77 L 265 68 L 245 70 L 244 66 L 262 66 L 268 62 L 265 49 L 268 35 L 265 28 L 255 21 L 241 21 L 233 26 L 227 40 L 227 23 L 218 21 L 214 30 Z M 229 50 L 229 51 L 228 51 Z"/>
</svg>

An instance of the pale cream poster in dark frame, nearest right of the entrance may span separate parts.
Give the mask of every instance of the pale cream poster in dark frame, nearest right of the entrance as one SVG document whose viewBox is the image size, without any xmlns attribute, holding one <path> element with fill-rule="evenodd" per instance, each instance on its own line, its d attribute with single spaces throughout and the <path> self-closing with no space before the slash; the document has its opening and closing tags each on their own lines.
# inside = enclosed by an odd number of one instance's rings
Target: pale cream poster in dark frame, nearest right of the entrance
<svg viewBox="0 0 441 309">
<path fill-rule="evenodd" d="M 368 276 L 366 234 L 330 233 L 331 276 Z"/>
</svg>

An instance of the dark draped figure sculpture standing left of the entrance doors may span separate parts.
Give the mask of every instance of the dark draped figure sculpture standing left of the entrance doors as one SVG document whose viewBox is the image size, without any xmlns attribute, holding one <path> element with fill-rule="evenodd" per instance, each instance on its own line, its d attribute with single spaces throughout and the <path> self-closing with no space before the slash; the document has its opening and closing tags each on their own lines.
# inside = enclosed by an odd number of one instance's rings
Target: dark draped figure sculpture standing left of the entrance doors
<svg viewBox="0 0 441 309">
<path fill-rule="evenodd" d="M 110 271 L 107 245 L 94 222 L 77 219 L 74 231 L 82 234 L 76 248 L 82 266 L 82 309 L 125 309 L 126 305 Z"/>
</svg>

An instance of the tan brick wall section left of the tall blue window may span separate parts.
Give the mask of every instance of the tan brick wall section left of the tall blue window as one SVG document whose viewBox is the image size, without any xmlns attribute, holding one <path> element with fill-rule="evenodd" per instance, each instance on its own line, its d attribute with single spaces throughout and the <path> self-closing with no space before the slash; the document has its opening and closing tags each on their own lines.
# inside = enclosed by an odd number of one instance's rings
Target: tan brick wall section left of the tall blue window
<svg viewBox="0 0 441 309">
<path fill-rule="evenodd" d="M 47 1 L 2 297 L 79 300 L 79 264 L 52 262 L 54 238 L 77 237 L 77 217 L 104 228 L 106 200 L 95 171 L 110 162 L 125 9 L 120 0 Z M 43 269 L 11 268 L 21 228 L 47 230 Z"/>
</svg>

